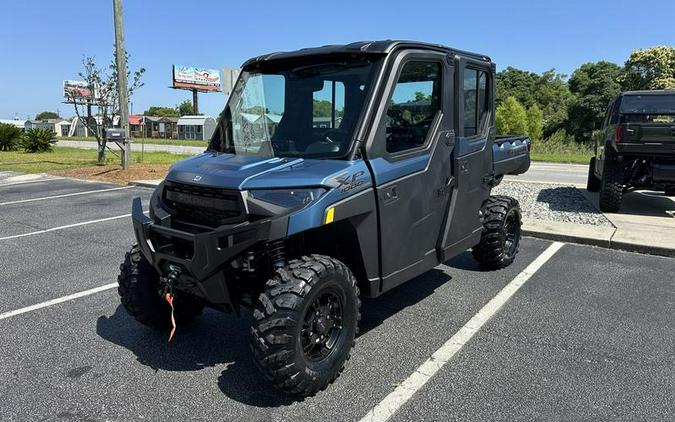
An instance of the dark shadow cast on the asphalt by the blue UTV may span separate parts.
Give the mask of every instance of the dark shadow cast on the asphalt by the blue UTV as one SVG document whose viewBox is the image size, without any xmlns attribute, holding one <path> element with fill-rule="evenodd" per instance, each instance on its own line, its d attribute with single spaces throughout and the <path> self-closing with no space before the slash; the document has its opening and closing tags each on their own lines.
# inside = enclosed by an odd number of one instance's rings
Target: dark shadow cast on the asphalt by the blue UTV
<svg viewBox="0 0 675 422">
<path fill-rule="evenodd" d="M 458 257 L 448 263 L 463 263 L 465 259 Z M 422 301 L 450 279 L 445 272 L 433 269 L 378 299 L 364 299 L 359 335 Z M 155 371 L 197 371 L 226 365 L 218 377 L 218 387 L 232 400 L 256 407 L 290 405 L 296 400 L 274 389 L 251 359 L 248 348 L 251 319 L 248 311 L 237 318 L 206 310 L 193 323 L 179 326 L 176 336 L 168 343 L 168 333 L 142 326 L 120 305 L 113 315 L 98 318 L 96 332 L 101 338 L 130 350 L 138 362 Z"/>
</svg>

